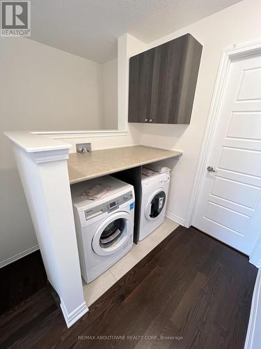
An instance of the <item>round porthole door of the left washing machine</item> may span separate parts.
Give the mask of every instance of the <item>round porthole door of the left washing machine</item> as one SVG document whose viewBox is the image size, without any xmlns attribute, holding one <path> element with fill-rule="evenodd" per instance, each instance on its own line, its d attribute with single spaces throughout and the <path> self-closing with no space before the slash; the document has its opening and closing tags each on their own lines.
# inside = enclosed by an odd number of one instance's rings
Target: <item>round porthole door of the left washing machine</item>
<svg viewBox="0 0 261 349">
<path fill-rule="evenodd" d="M 127 212 L 116 212 L 106 218 L 93 235 L 93 251 L 111 255 L 118 251 L 133 232 L 133 219 Z"/>
</svg>

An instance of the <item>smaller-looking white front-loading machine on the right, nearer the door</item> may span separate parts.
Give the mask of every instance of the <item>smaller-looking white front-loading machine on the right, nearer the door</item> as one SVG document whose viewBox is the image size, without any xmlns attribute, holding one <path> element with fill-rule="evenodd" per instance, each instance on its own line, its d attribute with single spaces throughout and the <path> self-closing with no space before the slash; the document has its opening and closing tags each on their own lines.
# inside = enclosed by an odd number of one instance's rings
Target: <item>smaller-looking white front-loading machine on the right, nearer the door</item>
<svg viewBox="0 0 261 349">
<path fill-rule="evenodd" d="M 141 241 L 164 221 L 170 174 L 146 171 L 141 179 L 141 220 L 138 241 Z"/>
</svg>

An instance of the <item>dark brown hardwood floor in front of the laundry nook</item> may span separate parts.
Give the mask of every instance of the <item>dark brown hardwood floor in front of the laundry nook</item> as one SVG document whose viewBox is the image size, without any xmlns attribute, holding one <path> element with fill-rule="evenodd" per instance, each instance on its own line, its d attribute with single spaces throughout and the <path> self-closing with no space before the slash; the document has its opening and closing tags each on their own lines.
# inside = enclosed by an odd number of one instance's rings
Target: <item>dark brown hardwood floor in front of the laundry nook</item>
<svg viewBox="0 0 261 349">
<path fill-rule="evenodd" d="M 47 287 L 0 318 L 1 348 L 244 348 L 257 269 L 177 228 L 67 329 Z"/>
</svg>

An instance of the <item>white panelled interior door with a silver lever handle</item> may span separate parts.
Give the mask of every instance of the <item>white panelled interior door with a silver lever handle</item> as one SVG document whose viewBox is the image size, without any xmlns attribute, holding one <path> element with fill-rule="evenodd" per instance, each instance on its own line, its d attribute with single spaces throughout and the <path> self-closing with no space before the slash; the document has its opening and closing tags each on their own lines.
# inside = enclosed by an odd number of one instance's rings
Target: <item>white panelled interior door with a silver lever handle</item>
<svg viewBox="0 0 261 349">
<path fill-rule="evenodd" d="M 193 225 L 250 255 L 261 232 L 261 57 L 230 65 Z M 211 169 L 209 169 L 211 171 Z"/>
</svg>

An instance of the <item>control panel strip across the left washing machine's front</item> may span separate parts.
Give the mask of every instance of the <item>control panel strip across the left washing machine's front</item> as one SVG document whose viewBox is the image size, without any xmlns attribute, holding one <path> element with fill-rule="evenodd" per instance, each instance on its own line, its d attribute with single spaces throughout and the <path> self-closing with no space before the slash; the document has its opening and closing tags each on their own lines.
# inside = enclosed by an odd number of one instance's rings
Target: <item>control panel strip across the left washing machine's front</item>
<svg viewBox="0 0 261 349">
<path fill-rule="evenodd" d="M 133 195 L 132 191 L 129 191 L 128 193 L 125 193 L 124 195 L 118 196 L 118 198 L 109 200 L 107 202 L 104 202 L 104 204 L 97 205 L 91 209 L 86 209 L 84 211 L 86 221 L 90 218 L 94 218 L 96 216 L 99 216 L 100 214 L 103 214 L 104 212 L 111 212 L 115 209 L 118 209 L 120 205 L 124 204 L 125 202 L 132 200 Z"/>
</svg>

